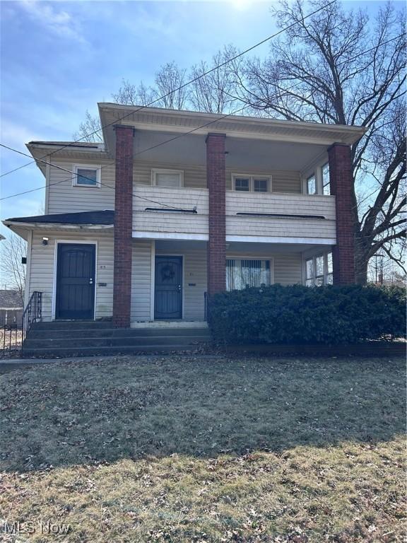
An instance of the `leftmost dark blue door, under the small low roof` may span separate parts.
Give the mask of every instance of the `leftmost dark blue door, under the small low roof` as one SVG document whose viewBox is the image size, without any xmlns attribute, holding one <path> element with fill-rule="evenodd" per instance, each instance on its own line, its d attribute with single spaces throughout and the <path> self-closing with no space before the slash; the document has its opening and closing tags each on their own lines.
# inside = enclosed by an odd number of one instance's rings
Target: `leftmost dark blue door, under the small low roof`
<svg viewBox="0 0 407 543">
<path fill-rule="evenodd" d="M 55 318 L 92 320 L 95 316 L 95 245 L 59 243 Z"/>
</svg>

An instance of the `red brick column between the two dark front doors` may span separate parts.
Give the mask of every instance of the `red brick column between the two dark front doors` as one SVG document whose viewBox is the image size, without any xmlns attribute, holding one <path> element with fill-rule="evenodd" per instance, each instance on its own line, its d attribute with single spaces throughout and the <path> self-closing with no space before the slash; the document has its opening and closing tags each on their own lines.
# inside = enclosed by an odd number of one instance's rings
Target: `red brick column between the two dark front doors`
<svg viewBox="0 0 407 543">
<path fill-rule="evenodd" d="M 118 124 L 114 191 L 113 326 L 130 327 L 134 129 Z"/>
</svg>

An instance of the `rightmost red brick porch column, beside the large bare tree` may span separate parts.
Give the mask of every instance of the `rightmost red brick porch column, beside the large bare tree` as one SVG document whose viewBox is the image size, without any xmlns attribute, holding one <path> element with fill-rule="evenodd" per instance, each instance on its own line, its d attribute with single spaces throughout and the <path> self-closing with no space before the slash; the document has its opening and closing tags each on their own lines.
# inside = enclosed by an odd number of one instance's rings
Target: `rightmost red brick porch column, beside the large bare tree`
<svg viewBox="0 0 407 543">
<path fill-rule="evenodd" d="M 334 284 L 355 283 L 355 239 L 352 214 L 352 159 L 350 146 L 334 144 L 328 149 L 329 183 L 336 198 L 336 245 L 332 250 Z"/>
</svg>

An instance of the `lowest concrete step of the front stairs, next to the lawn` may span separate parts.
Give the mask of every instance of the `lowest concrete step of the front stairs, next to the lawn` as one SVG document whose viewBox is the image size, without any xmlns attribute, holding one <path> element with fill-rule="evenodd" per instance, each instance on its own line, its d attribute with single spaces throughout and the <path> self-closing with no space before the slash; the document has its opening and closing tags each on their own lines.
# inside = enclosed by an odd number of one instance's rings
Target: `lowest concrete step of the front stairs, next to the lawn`
<svg viewBox="0 0 407 543">
<path fill-rule="evenodd" d="M 186 347 L 185 345 L 138 345 L 138 346 L 104 346 L 104 347 L 53 347 L 23 349 L 23 356 L 40 356 L 42 358 L 72 357 L 72 356 L 110 356 L 114 354 L 171 354 L 185 352 L 193 354 L 201 351 L 204 346 Z"/>
</svg>

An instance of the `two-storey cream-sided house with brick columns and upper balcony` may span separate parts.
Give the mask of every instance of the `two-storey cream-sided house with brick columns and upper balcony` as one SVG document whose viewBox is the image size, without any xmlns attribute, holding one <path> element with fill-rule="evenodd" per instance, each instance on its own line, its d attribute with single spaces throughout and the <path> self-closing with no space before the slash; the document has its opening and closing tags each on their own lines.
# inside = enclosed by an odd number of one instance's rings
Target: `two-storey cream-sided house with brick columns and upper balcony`
<svg viewBox="0 0 407 543">
<path fill-rule="evenodd" d="M 225 289 L 354 282 L 365 129 L 139 109 L 100 104 L 103 144 L 28 144 L 45 215 L 4 224 L 28 240 L 43 320 L 201 321 Z"/>
</svg>

